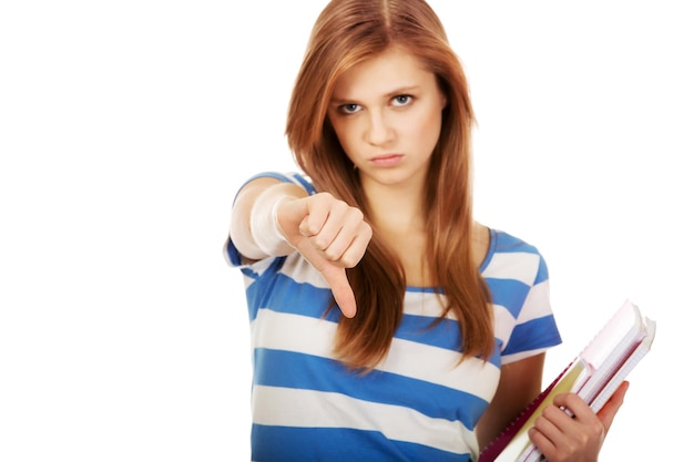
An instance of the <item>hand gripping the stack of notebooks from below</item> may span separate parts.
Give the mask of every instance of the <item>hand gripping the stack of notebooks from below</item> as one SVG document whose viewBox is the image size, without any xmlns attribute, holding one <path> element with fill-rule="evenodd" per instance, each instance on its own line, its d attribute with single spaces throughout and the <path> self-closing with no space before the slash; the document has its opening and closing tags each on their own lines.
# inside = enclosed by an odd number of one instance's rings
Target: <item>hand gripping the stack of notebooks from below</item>
<svg viewBox="0 0 694 462">
<path fill-rule="evenodd" d="M 558 394 L 529 430 L 530 441 L 549 462 L 596 462 L 627 388 L 629 382 L 622 382 L 598 413 L 575 393 Z"/>
</svg>

